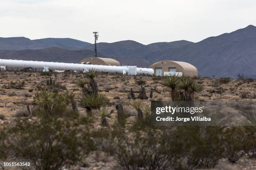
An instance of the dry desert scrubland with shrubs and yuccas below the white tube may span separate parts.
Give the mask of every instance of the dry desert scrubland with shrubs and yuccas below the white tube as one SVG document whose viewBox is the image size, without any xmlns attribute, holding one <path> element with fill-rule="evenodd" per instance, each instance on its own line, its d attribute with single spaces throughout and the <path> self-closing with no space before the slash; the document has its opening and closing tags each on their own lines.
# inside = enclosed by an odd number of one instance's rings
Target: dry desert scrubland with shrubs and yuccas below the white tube
<svg viewBox="0 0 256 170">
<path fill-rule="evenodd" d="M 218 168 L 220 161 L 230 166 L 241 159 L 255 161 L 256 127 L 152 128 L 150 107 L 151 100 L 214 100 L 247 85 L 255 92 L 255 80 L 124 76 L 94 70 L 29 74 L 43 82 L 4 83 L 9 75 L 1 75 L 1 95 L 7 95 L 5 89 L 23 88 L 32 94 L 18 98 L 15 105 L 22 107 L 12 117 L 0 115 L 2 162 L 29 161 L 31 167 L 23 168 L 33 170 L 92 169 L 95 162 L 106 165 L 96 169 L 195 170 Z M 67 81 L 72 87 L 66 87 Z M 236 93 L 236 100 L 256 101 L 252 92 L 245 98 Z"/>
</svg>

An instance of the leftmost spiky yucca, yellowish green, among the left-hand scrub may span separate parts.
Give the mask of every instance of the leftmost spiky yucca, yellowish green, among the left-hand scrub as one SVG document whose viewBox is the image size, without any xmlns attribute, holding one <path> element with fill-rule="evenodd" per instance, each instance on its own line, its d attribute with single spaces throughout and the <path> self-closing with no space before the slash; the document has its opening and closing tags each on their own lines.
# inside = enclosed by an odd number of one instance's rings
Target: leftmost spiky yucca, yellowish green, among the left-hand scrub
<svg viewBox="0 0 256 170">
<path fill-rule="evenodd" d="M 51 113 L 51 108 L 54 104 L 54 93 L 48 92 L 44 88 L 36 96 L 36 104 L 39 106 L 39 108 L 44 109 L 46 115 L 49 115 Z"/>
</svg>

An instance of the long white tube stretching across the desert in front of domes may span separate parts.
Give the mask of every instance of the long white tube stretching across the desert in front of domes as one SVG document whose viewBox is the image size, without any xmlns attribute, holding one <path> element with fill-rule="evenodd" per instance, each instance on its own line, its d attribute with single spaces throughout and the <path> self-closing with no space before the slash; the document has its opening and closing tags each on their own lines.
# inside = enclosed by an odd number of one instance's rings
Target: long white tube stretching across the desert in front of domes
<svg viewBox="0 0 256 170">
<path fill-rule="evenodd" d="M 64 62 L 44 62 L 44 61 L 26 61 L 26 60 L 3 60 L 0 59 L 0 66 L 6 66 L 7 68 L 34 68 L 43 69 L 43 67 L 49 67 L 50 70 L 74 70 L 83 71 L 84 69 L 95 69 L 97 72 L 109 72 L 123 74 L 125 71 L 128 74 L 129 66 L 112 66 L 112 65 L 86 65 L 86 64 L 74 64 Z M 140 68 L 137 67 L 137 74 L 153 75 L 154 70 L 152 68 Z"/>
</svg>

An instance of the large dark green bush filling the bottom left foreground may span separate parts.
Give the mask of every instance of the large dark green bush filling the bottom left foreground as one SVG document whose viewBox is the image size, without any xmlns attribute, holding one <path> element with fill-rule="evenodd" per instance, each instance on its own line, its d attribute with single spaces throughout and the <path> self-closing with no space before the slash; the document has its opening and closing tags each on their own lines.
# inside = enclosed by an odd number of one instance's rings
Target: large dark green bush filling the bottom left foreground
<svg viewBox="0 0 256 170">
<path fill-rule="evenodd" d="M 17 121 L 8 130 L 8 153 L 31 162 L 33 170 L 70 169 L 92 148 L 88 130 L 80 131 L 78 125 L 60 119 Z"/>
</svg>

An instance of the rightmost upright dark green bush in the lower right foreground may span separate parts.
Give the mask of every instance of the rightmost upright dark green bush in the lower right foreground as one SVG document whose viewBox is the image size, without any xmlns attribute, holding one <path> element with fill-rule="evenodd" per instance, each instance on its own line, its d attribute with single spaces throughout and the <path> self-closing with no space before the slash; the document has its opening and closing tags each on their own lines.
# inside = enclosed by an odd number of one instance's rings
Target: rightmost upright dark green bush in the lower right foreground
<svg viewBox="0 0 256 170">
<path fill-rule="evenodd" d="M 245 154 L 245 137 L 243 128 L 238 126 L 228 127 L 223 130 L 224 156 L 231 163 L 236 163 Z"/>
</svg>

